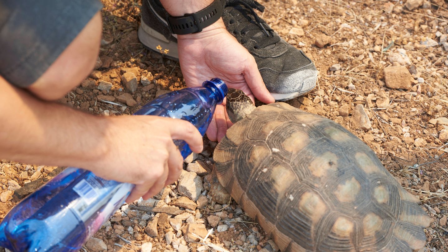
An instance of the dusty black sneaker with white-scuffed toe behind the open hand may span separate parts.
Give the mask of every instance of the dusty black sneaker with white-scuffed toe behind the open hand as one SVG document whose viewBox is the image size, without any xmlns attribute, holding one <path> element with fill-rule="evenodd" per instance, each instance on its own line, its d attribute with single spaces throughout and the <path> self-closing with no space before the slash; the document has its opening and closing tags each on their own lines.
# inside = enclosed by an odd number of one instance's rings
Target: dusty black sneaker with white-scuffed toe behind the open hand
<svg viewBox="0 0 448 252">
<path fill-rule="evenodd" d="M 177 37 L 172 35 L 159 0 L 142 1 L 142 22 L 138 38 L 149 49 L 179 59 Z M 254 9 L 264 11 L 253 0 L 221 0 L 224 24 L 238 42 L 254 56 L 267 90 L 276 101 L 290 100 L 316 86 L 313 62 L 272 30 Z M 168 52 L 166 51 L 169 50 Z"/>
</svg>

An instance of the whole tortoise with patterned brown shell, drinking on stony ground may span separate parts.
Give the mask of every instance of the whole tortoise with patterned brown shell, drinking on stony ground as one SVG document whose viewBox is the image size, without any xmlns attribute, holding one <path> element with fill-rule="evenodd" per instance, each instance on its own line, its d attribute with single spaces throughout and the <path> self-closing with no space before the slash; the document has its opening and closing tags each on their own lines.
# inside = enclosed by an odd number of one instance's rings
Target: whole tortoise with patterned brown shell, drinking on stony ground
<svg viewBox="0 0 448 252">
<path fill-rule="evenodd" d="M 255 108 L 235 89 L 227 113 L 234 125 L 213 153 L 219 184 L 211 182 L 209 193 L 224 204 L 228 191 L 281 251 L 407 252 L 425 245 L 430 217 L 417 197 L 344 127 L 282 102 Z"/>
</svg>

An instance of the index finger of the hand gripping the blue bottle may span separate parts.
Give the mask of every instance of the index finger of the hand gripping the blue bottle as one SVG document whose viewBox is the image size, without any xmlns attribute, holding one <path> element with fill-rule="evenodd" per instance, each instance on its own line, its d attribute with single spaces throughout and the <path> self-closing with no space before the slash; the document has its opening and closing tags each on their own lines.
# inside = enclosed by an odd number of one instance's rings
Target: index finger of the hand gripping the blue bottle
<svg viewBox="0 0 448 252">
<path fill-rule="evenodd" d="M 171 119 L 171 118 L 167 118 Z M 190 149 L 196 153 L 202 152 L 203 142 L 199 130 L 190 122 L 181 119 L 175 123 L 168 124 L 168 130 L 172 139 L 181 139 L 188 143 Z"/>
</svg>

